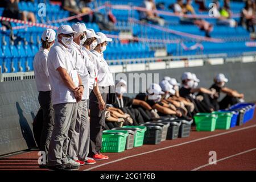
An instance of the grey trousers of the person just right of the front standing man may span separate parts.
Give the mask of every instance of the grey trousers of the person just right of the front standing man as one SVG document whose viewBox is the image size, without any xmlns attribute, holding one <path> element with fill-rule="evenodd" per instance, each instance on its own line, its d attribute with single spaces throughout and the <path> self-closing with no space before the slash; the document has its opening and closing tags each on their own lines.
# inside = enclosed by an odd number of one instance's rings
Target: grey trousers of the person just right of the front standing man
<svg viewBox="0 0 256 182">
<path fill-rule="evenodd" d="M 69 156 L 74 160 L 88 160 L 90 122 L 87 108 L 87 100 L 82 100 L 78 103 L 75 130 L 68 149 Z"/>
</svg>

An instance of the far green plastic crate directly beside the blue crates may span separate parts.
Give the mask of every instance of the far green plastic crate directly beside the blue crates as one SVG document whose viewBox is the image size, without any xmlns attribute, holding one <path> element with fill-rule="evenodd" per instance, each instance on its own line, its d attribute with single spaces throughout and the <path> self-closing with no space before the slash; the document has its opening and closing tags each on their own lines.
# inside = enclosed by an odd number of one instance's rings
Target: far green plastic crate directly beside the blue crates
<svg viewBox="0 0 256 182">
<path fill-rule="evenodd" d="M 216 129 L 228 130 L 231 124 L 232 112 L 214 111 L 213 114 L 217 114 Z"/>
</svg>

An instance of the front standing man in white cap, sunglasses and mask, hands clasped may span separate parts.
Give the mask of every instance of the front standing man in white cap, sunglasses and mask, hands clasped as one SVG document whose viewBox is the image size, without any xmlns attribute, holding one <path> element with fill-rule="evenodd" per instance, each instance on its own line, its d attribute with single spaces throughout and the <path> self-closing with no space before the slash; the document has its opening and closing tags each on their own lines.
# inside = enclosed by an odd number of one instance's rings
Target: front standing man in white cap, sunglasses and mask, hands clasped
<svg viewBox="0 0 256 182">
<path fill-rule="evenodd" d="M 57 42 L 49 51 L 47 59 L 55 111 L 48 166 L 54 170 L 78 170 L 80 167 L 80 163 L 68 156 L 69 140 L 76 123 L 77 102 L 81 101 L 84 91 L 73 64 L 75 61 L 68 49 L 73 42 L 74 33 L 70 26 L 60 26 L 57 30 Z"/>
</svg>

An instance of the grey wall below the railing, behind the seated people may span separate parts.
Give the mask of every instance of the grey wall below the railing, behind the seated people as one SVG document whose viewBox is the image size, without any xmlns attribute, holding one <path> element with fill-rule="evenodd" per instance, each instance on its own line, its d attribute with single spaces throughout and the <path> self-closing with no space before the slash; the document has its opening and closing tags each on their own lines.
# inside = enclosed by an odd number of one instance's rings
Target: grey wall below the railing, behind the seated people
<svg viewBox="0 0 256 182">
<path fill-rule="evenodd" d="M 228 63 L 205 65 L 203 67 L 174 68 L 147 71 L 175 77 L 180 81 L 184 71 L 196 73 L 200 86 L 209 87 L 213 76 L 225 73 L 229 78 L 227 86 L 245 94 L 246 101 L 256 101 L 256 63 Z M 129 73 L 125 73 L 128 75 Z M 136 72 L 145 73 L 145 72 Z M 134 94 L 130 94 L 133 96 Z M 0 82 L 0 155 L 34 147 L 32 121 L 39 109 L 35 80 Z"/>
</svg>

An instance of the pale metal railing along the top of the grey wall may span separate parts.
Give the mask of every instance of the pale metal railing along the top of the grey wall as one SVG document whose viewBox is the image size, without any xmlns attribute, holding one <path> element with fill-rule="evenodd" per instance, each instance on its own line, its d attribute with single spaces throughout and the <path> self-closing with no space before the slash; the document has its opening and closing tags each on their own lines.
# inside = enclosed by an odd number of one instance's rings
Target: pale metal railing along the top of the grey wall
<svg viewBox="0 0 256 182">
<path fill-rule="evenodd" d="M 153 61 L 159 62 L 163 61 L 166 63 L 166 69 L 170 68 L 169 65 L 171 61 L 188 61 L 188 60 L 203 60 L 204 64 L 209 64 L 209 59 L 222 58 L 224 63 L 230 62 L 242 62 L 243 56 L 253 56 L 254 61 L 256 61 L 256 52 L 245 52 L 241 56 L 228 57 L 226 53 L 209 54 L 209 55 L 188 55 L 188 56 L 166 56 L 166 57 L 147 57 L 147 58 L 137 58 L 137 59 L 122 59 L 122 60 L 108 60 L 111 65 L 121 65 L 123 72 L 126 72 L 126 67 L 129 64 L 143 63 L 146 64 L 146 69 L 149 69 L 149 64 Z M 16 73 L 2 73 L 2 68 L 0 66 L 0 81 L 15 81 L 15 80 L 27 80 L 35 78 L 34 71 L 32 72 L 16 72 Z"/>
</svg>

